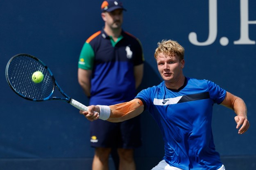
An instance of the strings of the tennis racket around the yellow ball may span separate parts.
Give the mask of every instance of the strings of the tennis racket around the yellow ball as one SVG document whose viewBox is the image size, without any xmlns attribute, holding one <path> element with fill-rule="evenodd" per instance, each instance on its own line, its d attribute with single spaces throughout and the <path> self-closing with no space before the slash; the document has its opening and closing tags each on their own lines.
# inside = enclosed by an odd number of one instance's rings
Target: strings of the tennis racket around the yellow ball
<svg viewBox="0 0 256 170">
<path fill-rule="evenodd" d="M 44 75 L 43 81 L 40 83 L 32 81 L 32 74 L 36 71 L 40 71 Z M 7 74 L 10 85 L 26 98 L 43 100 L 53 92 L 54 82 L 48 69 L 30 56 L 14 57 L 9 63 Z"/>
</svg>

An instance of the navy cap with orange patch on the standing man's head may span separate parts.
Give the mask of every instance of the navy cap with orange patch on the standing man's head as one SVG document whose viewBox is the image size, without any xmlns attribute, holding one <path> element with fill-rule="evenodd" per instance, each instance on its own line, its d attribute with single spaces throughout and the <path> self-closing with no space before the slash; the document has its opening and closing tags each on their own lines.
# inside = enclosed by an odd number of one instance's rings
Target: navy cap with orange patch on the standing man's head
<svg viewBox="0 0 256 170">
<path fill-rule="evenodd" d="M 102 12 L 111 12 L 116 9 L 122 9 L 126 11 L 126 9 L 124 9 L 124 7 L 122 6 L 122 2 L 120 2 L 119 0 L 104 0 L 101 4 Z"/>
</svg>

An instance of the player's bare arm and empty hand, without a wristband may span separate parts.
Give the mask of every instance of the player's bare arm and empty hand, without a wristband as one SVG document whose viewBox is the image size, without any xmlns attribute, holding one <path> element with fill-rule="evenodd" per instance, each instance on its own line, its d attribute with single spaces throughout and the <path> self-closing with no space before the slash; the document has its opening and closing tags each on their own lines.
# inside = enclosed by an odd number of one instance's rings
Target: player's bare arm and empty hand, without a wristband
<svg viewBox="0 0 256 170">
<path fill-rule="evenodd" d="M 245 133 L 248 130 L 250 124 L 247 119 L 247 107 L 242 98 L 227 92 L 226 97 L 221 104 L 234 110 L 237 115 L 235 116 L 235 121 L 237 123 L 236 129 L 239 129 L 238 134 Z"/>
</svg>

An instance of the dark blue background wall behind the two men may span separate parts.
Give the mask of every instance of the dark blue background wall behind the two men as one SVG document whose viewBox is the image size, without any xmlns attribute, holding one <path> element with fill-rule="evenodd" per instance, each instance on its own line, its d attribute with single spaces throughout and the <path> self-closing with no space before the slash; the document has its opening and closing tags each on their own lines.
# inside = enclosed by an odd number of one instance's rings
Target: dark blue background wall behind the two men
<svg viewBox="0 0 256 170">
<path fill-rule="evenodd" d="M 88 104 L 77 83 L 77 61 L 84 41 L 103 26 L 101 3 L 101 0 L 0 1 L 0 169 L 91 169 L 89 122 L 67 103 L 36 103 L 20 98 L 7 85 L 5 66 L 15 54 L 34 55 L 50 67 L 68 95 Z M 251 123 L 248 132 L 238 135 L 235 114 L 216 105 L 213 135 L 226 169 L 255 170 L 256 1 L 123 0 L 123 3 L 127 9 L 123 28 L 140 39 L 145 54 L 145 76 L 140 89 L 161 81 L 153 56 L 157 42 L 177 40 L 185 47 L 186 76 L 214 81 L 247 103 Z M 213 11 L 212 15 L 209 11 Z M 189 39 L 191 32 L 197 34 L 198 45 Z M 240 37 L 244 40 L 238 41 Z M 163 141 L 151 116 L 144 112 L 142 118 L 143 146 L 136 150 L 135 158 L 137 169 L 148 170 L 163 157 Z"/>
</svg>

